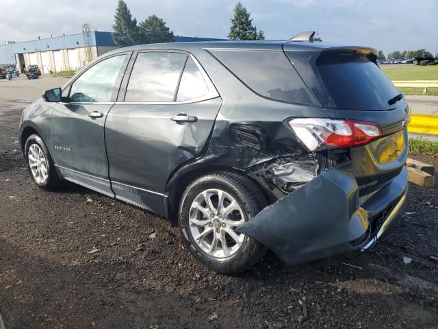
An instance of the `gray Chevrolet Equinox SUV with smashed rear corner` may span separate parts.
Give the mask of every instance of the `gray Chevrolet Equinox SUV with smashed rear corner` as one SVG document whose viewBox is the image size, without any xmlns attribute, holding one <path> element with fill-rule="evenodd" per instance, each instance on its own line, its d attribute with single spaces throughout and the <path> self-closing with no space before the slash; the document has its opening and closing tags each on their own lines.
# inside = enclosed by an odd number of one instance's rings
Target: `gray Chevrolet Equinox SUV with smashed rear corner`
<svg viewBox="0 0 438 329">
<path fill-rule="evenodd" d="M 105 53 L 23 111 L 44 190 L 74 182 L 179 226 L 220 273 L 369 249 L 407 197 L 409 106 L 376 50 L 285 41 Z"/>
</svg>

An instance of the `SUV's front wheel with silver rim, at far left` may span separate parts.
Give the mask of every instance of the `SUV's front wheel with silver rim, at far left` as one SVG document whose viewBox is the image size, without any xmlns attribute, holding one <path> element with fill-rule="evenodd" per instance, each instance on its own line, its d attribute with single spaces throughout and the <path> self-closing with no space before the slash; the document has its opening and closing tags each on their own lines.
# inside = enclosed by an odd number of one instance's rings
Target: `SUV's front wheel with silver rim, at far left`
<svg viewBox="0 0 438 329">
<path fill-rule="evenodd" d="M 27 138 L 25 160 L 31 178 L 39 188 L 51 191 L 61 185 L 49 150 L 40 136 L 32 134 Z"/>
</svg>

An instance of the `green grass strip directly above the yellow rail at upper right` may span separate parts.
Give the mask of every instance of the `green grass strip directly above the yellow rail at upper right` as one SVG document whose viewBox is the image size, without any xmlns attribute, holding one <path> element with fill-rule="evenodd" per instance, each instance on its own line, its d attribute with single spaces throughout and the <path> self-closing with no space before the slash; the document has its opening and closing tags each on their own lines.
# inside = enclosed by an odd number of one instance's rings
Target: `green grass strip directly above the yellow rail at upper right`
<svg viewBox="0 0 438 329">
<path fill-rule="evenodd" d="M 389 80 L 438 80 L 438 65 L 381 66 Z"/>
</svg>

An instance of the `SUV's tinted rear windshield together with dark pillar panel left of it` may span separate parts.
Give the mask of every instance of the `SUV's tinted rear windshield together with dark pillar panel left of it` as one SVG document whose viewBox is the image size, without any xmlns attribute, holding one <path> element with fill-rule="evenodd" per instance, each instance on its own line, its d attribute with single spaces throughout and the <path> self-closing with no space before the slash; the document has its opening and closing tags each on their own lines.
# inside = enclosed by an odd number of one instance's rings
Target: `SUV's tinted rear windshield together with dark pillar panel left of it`
<svg viewBox="0 0 438 329">
<path fill-rule="evenodd" d="M 288 52 L 322 106 L 344 110 L 389 110 L 399 94 L 386 75 L 362 53 L 354 51 Z M 398 105 L 398 104 L 397 104 Z"/>
</svg>

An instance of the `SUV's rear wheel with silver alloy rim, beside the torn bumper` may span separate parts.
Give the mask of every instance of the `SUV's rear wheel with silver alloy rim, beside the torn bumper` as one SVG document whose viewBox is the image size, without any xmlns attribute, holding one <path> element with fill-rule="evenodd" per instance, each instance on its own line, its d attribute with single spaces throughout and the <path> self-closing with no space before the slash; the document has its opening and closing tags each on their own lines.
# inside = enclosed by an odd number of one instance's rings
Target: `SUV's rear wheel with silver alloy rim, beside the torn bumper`
<svg viewBox="0 0 438 329">
<path fill-rule="evenodd" d="M 218 171 L 203 175 L 185 189 L 179 207 L 179 228 L 190 253 L 223 274 L 257 263 L 267 248 L 235 232 L 268 204 L 259 188 L 241 175 Z"/>
</svg>

